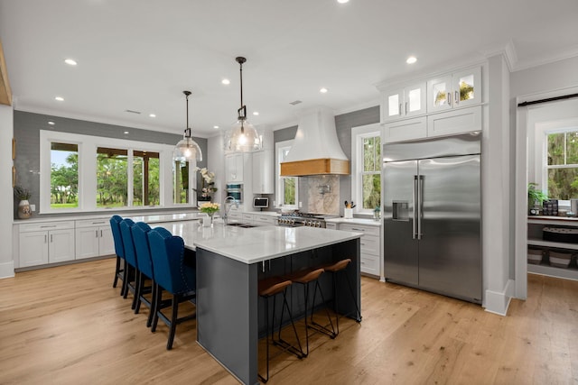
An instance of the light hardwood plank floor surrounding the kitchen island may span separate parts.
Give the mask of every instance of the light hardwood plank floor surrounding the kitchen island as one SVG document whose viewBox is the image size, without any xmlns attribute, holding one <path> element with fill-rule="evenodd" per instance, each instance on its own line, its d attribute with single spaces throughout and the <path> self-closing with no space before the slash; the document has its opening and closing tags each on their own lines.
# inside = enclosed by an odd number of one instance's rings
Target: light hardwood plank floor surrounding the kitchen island
<svg viewBox="0 0 578 385">
<path fill-rule="evenodd" d="M 0 280 L 1 384 L 235 384 L 195 343 L 195 322 L 152 334 L 111 287 L 113 259 Z M 279 355 L 271 384 L 576 384 L 578 282 L 528 275 L 508 316 L 362 278 L 362 316 Z M 130 298 L 130 297 L 129 297 Z M 188 310 L 193 310 L 190 307 Z M 261 351 L 260 351 L 261 352 Z M 273 350 L 272 352 L 275 352 Z"/>
</svg>

